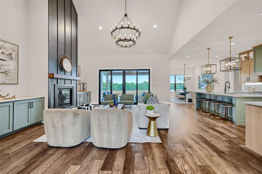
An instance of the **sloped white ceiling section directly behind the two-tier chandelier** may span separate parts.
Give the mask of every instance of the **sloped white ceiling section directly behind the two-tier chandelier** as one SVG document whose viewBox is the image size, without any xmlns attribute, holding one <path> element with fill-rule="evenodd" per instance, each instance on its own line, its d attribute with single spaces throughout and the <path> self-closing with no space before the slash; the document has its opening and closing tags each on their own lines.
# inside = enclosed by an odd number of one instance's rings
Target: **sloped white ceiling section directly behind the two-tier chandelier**
<svg viewBox="0 0 262 174">
<path fill-rule="evenodd" d="M 141 37 L 131 48 L 116 46 L 110 35 L 112 26 L 124 17 L 124 0 L 73 2 L 78 13 L 78 48 L 82 55 L 167 54 L 180 1 L 127 1 L 128 17 L 141 28 Z"/>
</svg>

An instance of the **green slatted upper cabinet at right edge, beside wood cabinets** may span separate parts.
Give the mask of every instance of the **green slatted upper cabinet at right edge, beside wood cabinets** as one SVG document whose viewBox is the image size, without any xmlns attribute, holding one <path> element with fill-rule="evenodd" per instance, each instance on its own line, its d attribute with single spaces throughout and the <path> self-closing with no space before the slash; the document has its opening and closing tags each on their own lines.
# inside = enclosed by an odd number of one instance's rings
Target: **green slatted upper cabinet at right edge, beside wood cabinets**
<svg viewBox="0 0 262 174">
<path fill-rule="evenodd" d="M 254 75 L 262 75 L 262 44 L 253 47 Z"/>
</svg>

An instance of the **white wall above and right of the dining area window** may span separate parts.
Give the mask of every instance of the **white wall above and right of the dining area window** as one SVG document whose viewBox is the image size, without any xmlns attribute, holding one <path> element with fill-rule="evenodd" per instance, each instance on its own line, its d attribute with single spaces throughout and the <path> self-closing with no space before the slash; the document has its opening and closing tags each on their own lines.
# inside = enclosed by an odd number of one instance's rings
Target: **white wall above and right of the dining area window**
<svg viewBox="0 0 262 174">
<path fill-rule="evenodd" d="M 184 68 L 170 68 L 170 75 L 184 75 Z M 193 68 L 186 68 L 186 75 L 193 76 Z M 189 87 L 186 86 L 186 90 L 188 91 L 195 90 L 195 84 L 193 81 L 193 77 L 191 77 L 191 80 L 185 81 L 185 83 L 189 85 Z"/>
</svg>

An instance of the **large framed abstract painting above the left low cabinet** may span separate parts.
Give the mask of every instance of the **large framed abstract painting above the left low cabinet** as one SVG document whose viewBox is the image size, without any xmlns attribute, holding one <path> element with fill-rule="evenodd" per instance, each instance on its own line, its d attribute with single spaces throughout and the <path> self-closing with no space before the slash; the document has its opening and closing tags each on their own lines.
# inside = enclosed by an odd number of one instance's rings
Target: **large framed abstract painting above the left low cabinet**
<svg viewBox="0 0 262 174">
<path fill-rule="evenodd" d="M 18 84 L 18 45 L 1 39 L 0 84 Z"/>
</svg>

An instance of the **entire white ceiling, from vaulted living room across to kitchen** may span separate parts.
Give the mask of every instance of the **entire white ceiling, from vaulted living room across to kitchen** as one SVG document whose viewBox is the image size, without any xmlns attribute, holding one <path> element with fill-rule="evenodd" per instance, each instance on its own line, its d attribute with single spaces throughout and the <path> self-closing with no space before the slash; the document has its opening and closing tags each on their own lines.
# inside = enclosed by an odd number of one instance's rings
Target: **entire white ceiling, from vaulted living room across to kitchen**
<svg viewBox="0 0 262 174">
<path fill-rule="evenodd" d="M 110 36 L 112 26 L 125 13 L 124 0 L 73 1 L 78 12 L 78 47 L 84 56 L 166 54 L 171 67 L 184 63 L 195 67 L 206 63 L 208 47 L 211 62 L 228 57 L 229 36 L 234 37 L 234 55 L 262 43 L 262 1 L 128 0 L 128 17 L 141 28 L 132 48 L 116 46 Z"/>
</svg>

